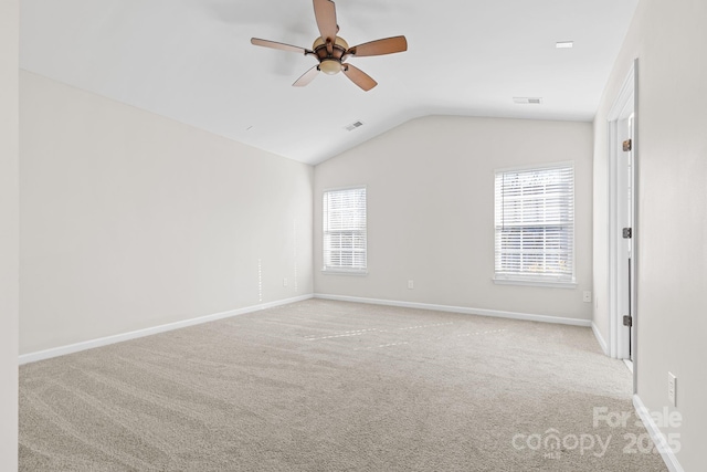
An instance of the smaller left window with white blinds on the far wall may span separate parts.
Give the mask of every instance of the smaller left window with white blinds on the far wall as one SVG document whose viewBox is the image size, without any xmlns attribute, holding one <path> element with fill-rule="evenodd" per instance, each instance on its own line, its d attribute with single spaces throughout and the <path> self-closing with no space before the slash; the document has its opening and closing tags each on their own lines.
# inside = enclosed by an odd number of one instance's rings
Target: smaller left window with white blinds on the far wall
<svg viewBox="0 0 707 472">
<path fill-rule="evenodd" d="M 366 273 L 366 187 L 324 192 L 324 271 Z"/>
</svg>

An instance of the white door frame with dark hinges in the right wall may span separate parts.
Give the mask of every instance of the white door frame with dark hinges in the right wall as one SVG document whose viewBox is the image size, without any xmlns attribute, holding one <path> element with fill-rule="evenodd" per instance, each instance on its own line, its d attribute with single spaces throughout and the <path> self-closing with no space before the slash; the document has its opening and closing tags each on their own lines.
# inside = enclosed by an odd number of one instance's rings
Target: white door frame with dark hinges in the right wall
<svg viewBox="0 0 707 472">
<path fill-rule="evenodd" d="M 626 329 L 631 329 L 631 357 L 633 358 L 633 375 L 634 375 L 634 390 L 635 390 L 635 379 L 636 379 L 636 354 L 637 354 L 637 304 L 636 304 L 636 294 L 637 294 L 637 274 L 639 264 L 637 264 L 637 249 L 639 249 L 639 231 L 636 228 L 639 227 L 639 204 L 637 204 L 637 196 L 639 196 L 639 95 L 637 95 L 637 66 L 639 60 L 634 60 L 631 65 L 631 70 L 624 83 L 616 96 L 616 99 L 611 107 L 611 111 L 608 115 L 608 145 L 609 145 L 609 233 L 608 233 L 608 242 L 609 242 L 609 314 L 610 314 L 610 333 L 609 333 L 609 347 L 610 355 L 614 358 L 625 359 L 629 358 L 629 332 Z M 625 204 L 624 196 L 620 195 L 620 182 L 619 175 L 620 172 L 620 157 L 621 151 L 621 137 L 620 137 L 620 122 L 629 118 L 629 116 L 633 114 L 633 198 L 632 198 L 632 213 L 633 213 L 633 250 L 632 250 L 632 286 L 631 286 L 631 306 L 632 306 L 632 316 L 633 316 L 633 326 L 627 328 L 623 326 L 623 313 L 621 313 L 620 306 L 620 264 L 623 264 L 624 261 L 619 260 L 620 247 L 621 244 L 621 228 L 619 221 L 619 204 Z"/>
</svg>

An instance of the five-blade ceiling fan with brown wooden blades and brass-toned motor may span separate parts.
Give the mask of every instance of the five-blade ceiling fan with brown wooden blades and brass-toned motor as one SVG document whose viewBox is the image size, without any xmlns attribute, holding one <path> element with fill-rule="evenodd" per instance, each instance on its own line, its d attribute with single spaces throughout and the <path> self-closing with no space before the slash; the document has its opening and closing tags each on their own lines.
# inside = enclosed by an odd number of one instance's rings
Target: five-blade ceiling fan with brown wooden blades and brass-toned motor
<svg viewBox="0 0 707 472">
<path fill-rule="evenodd" d="M 349 48 L 342 38 L 337 36 L 339 25 L 336 22 L 336 6 L 331 0 L 314 0 L 314 15 L 321 35 L 315 40 L 310 50 L 275 41 L 251 38 L 251 43 L 254 45 L 298 52 L 304 55 L 314 55 L 317 61 L 319 61 L 317 65 L 297 78 L 293 86 L 303 87 L 307 85 L 319 72 L 328 75 L 344 72 L 356 85 L 365 91 L 370 91 L 378 85 L 378 83 L 367 73 L 346 61 L 351 56 L 383 55 L 408 50 L 405 36 L 386 38 Z"/>
</svg>

